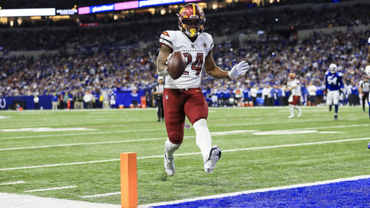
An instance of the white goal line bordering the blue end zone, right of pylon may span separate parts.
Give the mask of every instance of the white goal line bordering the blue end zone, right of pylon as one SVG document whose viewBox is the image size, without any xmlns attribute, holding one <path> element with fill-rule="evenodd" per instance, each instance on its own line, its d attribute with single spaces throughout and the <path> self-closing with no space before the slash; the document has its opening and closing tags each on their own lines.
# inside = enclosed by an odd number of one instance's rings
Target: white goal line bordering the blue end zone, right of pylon
<svg viewBox="0 0 370 208">
<path fill-rule="evenodd" d="M 232 196 L 236 196 L 236 195 L 252 194 L 252 193 L 257 193 L 257 192 L 277 191 L 277 190 L 290 189 L 290 188 L 299 188 L 299 187 L 308 187 L 308 186 L 314 186 L 314 185 L 332 184 L 332 183 L 342 182 L 342 181 L 356 181 L 356 180 L 366 179 L 366 178 L 370 178 L 370 175 L 361 175 L 361 176 L 355 176 L 355 177 L 349 177 L 349 178 L 339 178 L 339 179 L 334 179 L 334 180 L 318 181 L 318 182 L 306 183 L 306 184 L 295 184 L 295 185 L 287 185 L 287 186 L 280 186 L 280 187 L 261 188 L 261 189 L 255 189 L 255 190 L 249 190 L 249 191 L 233 192 L 233 193 L 229 193 L 229 194 L 217 194 L 217 195 L 206 196 L 206 197 L 181 199 L 181 200 L 169 201 L 169 202 L 159 202 L 159 203 L 153 203 L 153 204 L 139 205 L 138 208 L 150 208 L 150 207 L 154 207 L 154 206 L 179 204 L 179 203 L 183 203 L 183 202 L 192 202 L 192 201 L 198 201 L 198 200 L 204 200 L 204 199 L 232 197 Z"/>
</svg>

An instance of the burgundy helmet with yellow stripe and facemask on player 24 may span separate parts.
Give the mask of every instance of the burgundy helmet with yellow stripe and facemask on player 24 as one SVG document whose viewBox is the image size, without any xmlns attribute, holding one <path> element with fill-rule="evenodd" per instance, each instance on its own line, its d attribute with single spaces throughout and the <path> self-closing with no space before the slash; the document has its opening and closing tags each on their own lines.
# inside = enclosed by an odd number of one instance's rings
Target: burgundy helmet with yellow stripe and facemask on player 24
<svg viewBox="0 0 370 208">
<path fill-rule="evenodd" d="M 195 37 L 203 32 L 203 24 L 206 21 L 206 17 L 198 5 L 186 4 L 177 16 L 179 16 L 179 28 L 187 36 Z"/>
</svg>

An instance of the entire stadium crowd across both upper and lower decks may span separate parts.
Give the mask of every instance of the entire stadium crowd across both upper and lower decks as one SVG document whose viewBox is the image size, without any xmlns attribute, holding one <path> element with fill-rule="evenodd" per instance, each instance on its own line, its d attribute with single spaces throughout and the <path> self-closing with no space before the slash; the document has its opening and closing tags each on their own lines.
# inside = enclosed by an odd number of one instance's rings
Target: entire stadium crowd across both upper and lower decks
<svg viewBox="0 0 370 208">
<path fill-rule="evenodd" d="M 367 24 L 369 18 L 360 17 L 369 17 L 369 7 L 369 4 L 356 4 L 350 6 L 351 9 L 322 8 L 295 12 L 282 9 L 273 13 L 266 13 L 263 9 L 240 16 L 211 16 L 206 21 L 205 32 L 213 37 L 229 35 L 245 29 L 245 25 L 258 27 L 260 21 L 269 26 L 272 17 L 282 17 L 277 21 L 279 24 L 290 24 L 298 17 L 302 23 L 313 20 L 317 27 Z M 290 16 L 285 17 L 287 13 Z M 178 30 L 173 16 L 171 14 L 171 19 L 166 21 L 140 24 L 132 21 L 122 27 L 111 25 L 77 30 L 71 28 L 67 31 L 43 29 L 0 33 L 0 42 L 7 50 L 59 49 L 57 54 L 43 54 L 36 59 L 24 56 L 0 59 L 0 97 L 55 93 L 76 95 L 86 92 L 100 94 L 101 91 L 111 90 L 143 90 L 151 93 L 157 84 L 159 35 L 164 30 Z M 281 93 L 285 89 L 287 75 L 293 72 L 299 75 L 303 89 L 312 81 L 318 87 L 318 93 L 321 93 L 324 72 L 330 63 L 336 63 L 344 74 L 347 88 L 344 95 L 350 97 L 351 87 L 356 83 L 358 85 L 365 77 L 363 67 L 369 36 L 369 31 L 313 32 L 304 40 L 292 41 L 275 34 L 265 41 L 250 39 L 246 44 L 241 44 L 243 47 L 235 47 L 230 41 L 217 44 L 213 56 L 218 66 L 230 70 L 240 60 L 247 60 L 250 70 L 236 80 L 217 80 L 203 72 L 203 92 L 210 98 L 217 89 L 221 92 L 218 97 L 223 99 L 225 96 L 235 96 L 234 89 L 240 88 L 244 92 L 243 97 L 251 100 L 251 88 L 268 88 L 269 92 L 277 88 Z M 144 43 L 147 47 L 139 47 Z M 75 48 L 73 53 L 65 50 L 67 45 Z M 277 96 L 268 94 L 268 97 Z"/>
</svg>

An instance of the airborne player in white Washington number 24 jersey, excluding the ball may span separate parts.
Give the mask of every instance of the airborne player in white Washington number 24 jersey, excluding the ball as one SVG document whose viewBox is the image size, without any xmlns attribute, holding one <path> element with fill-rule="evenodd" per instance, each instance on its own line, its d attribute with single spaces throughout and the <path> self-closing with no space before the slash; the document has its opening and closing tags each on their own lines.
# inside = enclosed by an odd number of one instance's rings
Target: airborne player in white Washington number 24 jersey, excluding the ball
<svg viewBox="0 0 370 208">
<path fill-rule="evenodd" d="M 205 69 L 211 77 L 229 79 L 245 73 L 249 65 L 242 61 L 231 71 L 216 66 L 212 57 L 213 39 L 210 34 L 203 33 L 206 17 L 197 4 L 186 4 L 177 16 L 179 30 L 167 30 L 161 34 L 161 50 L 157 59 L 158 75 L 166 76 L 163 105 L 168 140 L 165 142 L 164 167 L 168 175 L 175 174 L 174 152 L 184 138 L 186 115 L 195 129 L 196 145 L 203 156 L 204 170 L 212 173 L 221 158 L 221 150 L 218 145 L 212 146 L 207 127 L 208 105 L 200 88 L 202 70 Z M 175 51 L 184 54 L 187 66 L 183 75 L 173 80 L 167 71 L 167 63 Z"/>
</svg>

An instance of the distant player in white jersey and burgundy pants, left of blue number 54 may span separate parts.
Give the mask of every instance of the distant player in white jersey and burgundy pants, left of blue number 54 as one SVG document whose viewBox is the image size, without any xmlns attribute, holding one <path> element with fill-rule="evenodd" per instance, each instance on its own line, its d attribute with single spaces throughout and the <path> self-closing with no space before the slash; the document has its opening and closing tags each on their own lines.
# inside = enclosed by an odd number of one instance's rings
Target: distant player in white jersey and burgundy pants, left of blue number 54
<svg viewBox="0 0 370 208">
<path fill-rule="evenodd" d="M 298 108 L 298 103 L 300 100 L 301 93 L 301 87 L 300 87 L 300 81 L 296 78 L 296 75 L 294 73 L 289 74 L 290 81 L 287 83 L 287 87 L 291 90 L 290 97 L 288 99 L 289 102 L 289 110 L 290 110 L 290 116 L 288 118 L 294 118 L 294 108 L 298 111 L 298 117 L 302 115 L 302 110 Z"/>
</svg>

